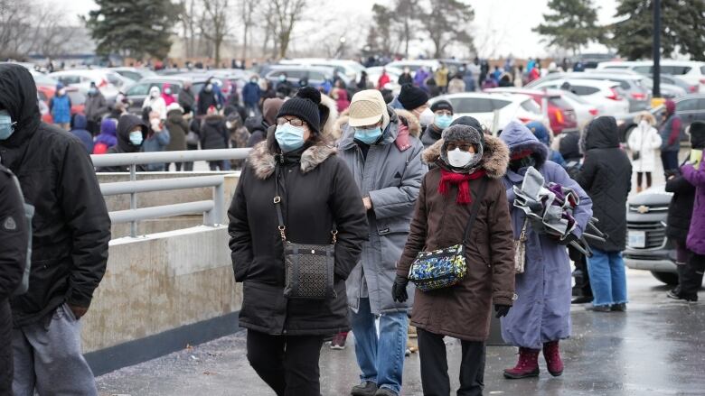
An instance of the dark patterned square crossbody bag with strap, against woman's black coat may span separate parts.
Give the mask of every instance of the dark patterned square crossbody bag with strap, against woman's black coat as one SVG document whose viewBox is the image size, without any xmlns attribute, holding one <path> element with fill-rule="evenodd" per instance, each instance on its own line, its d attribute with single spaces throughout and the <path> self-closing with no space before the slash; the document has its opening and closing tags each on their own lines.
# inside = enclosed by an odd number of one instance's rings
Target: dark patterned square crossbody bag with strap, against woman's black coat
<svg viewBox="0 0 705 396">
<path fill-rule="evenodd" d="M 335 225 L 331 231 L 333 244 L 296 244 L 288 241 L 287 226 L 284 225 L 281 211 L 278 165 L 274 185 L 277 190 L 274 206 L 277 207 L 278 229 L 284 244 L 284 296 L 287 299 L 335 299 L 335 243 L 338 234 Z"/>
</svg>

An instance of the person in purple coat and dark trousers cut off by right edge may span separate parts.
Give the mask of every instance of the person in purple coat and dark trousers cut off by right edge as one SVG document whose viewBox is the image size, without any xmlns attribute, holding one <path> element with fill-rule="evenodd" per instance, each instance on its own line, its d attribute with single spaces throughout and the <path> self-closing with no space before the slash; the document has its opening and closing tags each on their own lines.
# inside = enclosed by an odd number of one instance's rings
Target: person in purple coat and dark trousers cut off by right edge
<svg viewBox="0 0 705 396">
<path fill-rule="evenodd" d="M 698 290 L 705 272 L 705 123 L 691 124 L 691 161 L 681 167 L 681 174 L 695 187 L 695 204 L 692 207 L 691 228 L 685 244 L 690 251 L 681 276 L 680 294 L 689 301 L 698 300 Z M 693 154 L 693 152 L 695 154 Z"/>
</svg>

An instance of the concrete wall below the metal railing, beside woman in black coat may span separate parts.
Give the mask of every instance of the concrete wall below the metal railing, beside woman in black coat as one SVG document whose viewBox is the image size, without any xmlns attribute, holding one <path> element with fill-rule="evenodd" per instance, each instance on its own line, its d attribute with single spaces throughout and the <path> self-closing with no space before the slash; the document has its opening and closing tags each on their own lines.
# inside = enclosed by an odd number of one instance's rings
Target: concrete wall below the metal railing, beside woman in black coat
<svg viewBox="0 0 705 396">
<path fill-rule="evenodd" d="M 120 238 L 109 253 L 108 271 L 82 319 L 84 353 L 240 310 L 227 226 Z"/>
</svg>

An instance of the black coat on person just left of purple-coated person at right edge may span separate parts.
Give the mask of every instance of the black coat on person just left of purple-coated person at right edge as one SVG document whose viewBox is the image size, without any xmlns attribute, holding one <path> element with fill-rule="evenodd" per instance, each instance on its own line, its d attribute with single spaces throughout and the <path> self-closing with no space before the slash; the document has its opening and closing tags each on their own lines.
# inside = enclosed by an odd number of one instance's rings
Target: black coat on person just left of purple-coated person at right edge
<svg viewBox="0 0 705 396">
<path fill-rule="evenodd" d="M 673 193 L 668 205 L 666 236 L 685 246 L 691 228 L 692 207 L 695 203 L 695 187 L 681 175 L 666 181 L 666 191 Z"/>
</svg>

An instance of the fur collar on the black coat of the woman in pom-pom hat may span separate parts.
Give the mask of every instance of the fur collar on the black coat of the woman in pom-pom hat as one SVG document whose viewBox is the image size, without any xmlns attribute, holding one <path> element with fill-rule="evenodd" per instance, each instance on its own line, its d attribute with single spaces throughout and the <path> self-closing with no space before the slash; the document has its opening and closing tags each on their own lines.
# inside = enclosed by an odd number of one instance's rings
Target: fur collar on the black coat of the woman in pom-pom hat
<svg viewBox="0 0 705 396">
<path fill-rule="evenodd" d="M 326 143 L 315 144 L 305 150 L 301 154 L 301 171 L 308 173 L 314 170 L 315 167 L 323 163 L 332 155 L 335 155 L 337 150 L 335 147 Z M 268 142 L 260 142 L 249 152 L 248 163 L 255 171 L 255 175 L 259 180 L 266 180 L 274 173 L 277 161 L 275 155 L 269 152 Z"/>
</svg>

